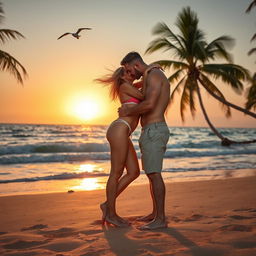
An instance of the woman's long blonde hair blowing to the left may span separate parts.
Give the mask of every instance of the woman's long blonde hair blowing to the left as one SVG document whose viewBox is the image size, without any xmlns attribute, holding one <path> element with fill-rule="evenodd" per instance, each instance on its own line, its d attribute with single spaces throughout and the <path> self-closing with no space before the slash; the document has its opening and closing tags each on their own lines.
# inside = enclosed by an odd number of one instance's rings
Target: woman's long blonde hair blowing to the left
<svg viewBox="0 0 256 256">
<path fill-rule="evenodd" d="M 116 100 L 119 96 L 120 85 L 124 82 L 122 78 L 124 75 L 124 68 L 116 69 L 112 74 L 107 74 L 102 78 L 95 79 L 96 82 L 104 86 L 110 86 L 109 95 L 112 100 Z"/>
</svg>

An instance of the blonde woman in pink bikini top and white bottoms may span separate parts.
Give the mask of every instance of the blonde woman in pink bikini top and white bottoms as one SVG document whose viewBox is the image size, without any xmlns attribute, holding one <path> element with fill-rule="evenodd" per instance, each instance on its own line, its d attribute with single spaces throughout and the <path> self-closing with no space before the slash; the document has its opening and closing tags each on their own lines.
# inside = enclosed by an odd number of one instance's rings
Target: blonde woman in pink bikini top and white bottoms
<svg viewBox="0 0 256 256">
<path fill-rule="evenodd" d="M 138 104 L 144 98 L 143 93 L 137 89 L 142 83 L 133 84 L 134 78 L 122 67 L 112 75 L 96 81 L 109 85 L 112 100 L 118 98 L 121 104 L 127 104 L 128 107 Z M 102 203 L 100 208 L 103 212 L 103 223 L 107 222 L 118 227 L 129 224 L 117 215 L 116 198 L 140 174 L 138 158 L 130 139 L 138 121 L 139 116 L 118 118 L 110 124 L 106 134 L 111 150 L 111 170 L 106 185 L 107 201 Z M 124 168 L 127 173 L 122 176 Z"/>
</svg>

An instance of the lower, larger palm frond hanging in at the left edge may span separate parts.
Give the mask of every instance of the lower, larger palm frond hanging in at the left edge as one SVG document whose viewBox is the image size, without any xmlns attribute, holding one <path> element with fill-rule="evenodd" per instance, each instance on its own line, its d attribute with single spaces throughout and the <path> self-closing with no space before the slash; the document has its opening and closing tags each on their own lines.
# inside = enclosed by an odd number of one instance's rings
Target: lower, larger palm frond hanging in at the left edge
<svg viewBox="0 0 256 256">
<path fill-rule="evenodd" d="M 7 52 L 0 50 L 0 70 L 10 72 L 19 83 L 23 83 L 23 78 L 27 76 L 26 69 L 21 65 L 19 61 L 17 61 L 14 57 L 12 57 Z M 22 74 L 21 74 L 22 73 Z"/>
</svg>

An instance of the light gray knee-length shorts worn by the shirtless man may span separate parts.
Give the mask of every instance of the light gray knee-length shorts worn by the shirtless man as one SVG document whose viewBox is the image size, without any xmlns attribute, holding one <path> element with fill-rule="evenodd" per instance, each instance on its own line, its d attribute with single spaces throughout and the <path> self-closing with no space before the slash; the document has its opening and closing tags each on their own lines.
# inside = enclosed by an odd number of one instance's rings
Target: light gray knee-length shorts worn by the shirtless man
<svg viewBox="0 0 256 256">
<path fill-rule="evenodd" d="M 142 128 L 139 145 L 142 169 L 146 174 L 162 171 L 169 136 L 165 122 L 148 124 Z"/>
</svg>

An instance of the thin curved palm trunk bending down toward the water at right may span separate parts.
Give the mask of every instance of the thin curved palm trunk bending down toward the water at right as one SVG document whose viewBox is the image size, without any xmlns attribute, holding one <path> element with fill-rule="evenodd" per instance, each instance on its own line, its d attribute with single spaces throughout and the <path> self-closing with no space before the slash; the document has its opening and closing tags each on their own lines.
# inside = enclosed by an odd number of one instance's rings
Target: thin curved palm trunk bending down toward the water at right
<svg viewBox="0 0 256 256">
<path fill-rule="evenodd" d="M 203 100 L 202 100 L 202 95 L 200 92 L 200 88 L 197 85 L 197 95 L 198 95 L 198 99 L 199 99 L 199 103 L 200 103 L 200 107 L 203 111 L 204 114 L 204 118 L 206 120 L 206 122 L 208 123 L 208 125 L 210 126 L 211 130 L 217 135 L 217 137 L 219 137 L 221 139 L 221 145 L 222 146 L 230 146 L 231 144 L 249 144 L 249 143 L 254 143 L 256 142 L 256 140 L 250 140 L 250 141 L 234 141 L 234 140 L 230 140 L 228 138 L 223 137 L 218 130 L 213 126 L 213 124 L 211 123 L 206 110 L 204 108 L 204 104 L 203 104 Z"/>
</svg>

